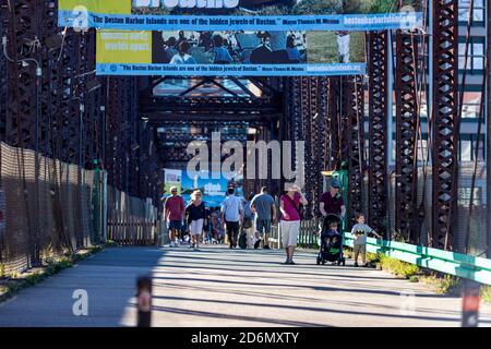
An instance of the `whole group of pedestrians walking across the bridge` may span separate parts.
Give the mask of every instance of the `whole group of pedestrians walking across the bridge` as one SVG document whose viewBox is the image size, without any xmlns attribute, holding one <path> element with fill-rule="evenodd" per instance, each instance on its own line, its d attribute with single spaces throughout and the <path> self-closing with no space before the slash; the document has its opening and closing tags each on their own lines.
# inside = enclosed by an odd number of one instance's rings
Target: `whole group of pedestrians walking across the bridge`
<svg viewBox="0 0 491 349">
<path fill-rule="evenodd" d="M 287 191 L 279 197 L 279 231 L 282 244 L 286 252 L 284 264 L 295 265 L 294 254 L 300 232 L 300 224 L 303 219 L 303 207 L 309 202 L 299 185 L 295 183 L 287 185 Z M 323 193 L 320 198 L 319 210 L 324 218 L 328 215 L 336 215 L 339 219 L 345 219 L 346 207 L 339 193 L 339 186 L 336 179 L 332 180 L 330 191 Z M 185 219 L 191 236 L 191 248 L 199 248 L 206 220 L 212 239 L 223 242 L 225 232 L 229 249 L 235 249 L 238 244 L 241 248 L 253 246 L 254 249 L 259 249 L 262 244 L 264 250 L 270 249 L 268 238 L 271 237 L 272 225 L 277 222 L 277 209 L 275 200 L 268 193 L 266 186 L 261 189 L 261 193 L 256 195 L 251 193 L 247 198 L 237 196 L 236 190 L 229 188 L 219 212 L 212 213 L 206 208 L 201 191 L 196 190 L 191 194 L 191 201 L 187 206 L 184 206 L 183 198 L 178 195 L 177 188 L 171 188 L 170 192 L 171 196 L 165 202 L 170 246 L 179 244 L 179 231 L 182 230 L 182 221 Z M 351 232 L 356 237 L 354 253 L 355 266 L 358 266 L 360 255 L 361 263 L 366 265 L 368 234 L 373 233 L 379 239 L 382 237 L 364 224 L 362 213 L 356 215 L 356 221 L 357 224 L 352 227 Z M 336 230 L 337 225 L 330 226 L 330 229 Z M 241 238 L 244 240 L 240 240 Z M 206 240 L 207 238 L 203 236 L 203 241 Z"/>
</svg>

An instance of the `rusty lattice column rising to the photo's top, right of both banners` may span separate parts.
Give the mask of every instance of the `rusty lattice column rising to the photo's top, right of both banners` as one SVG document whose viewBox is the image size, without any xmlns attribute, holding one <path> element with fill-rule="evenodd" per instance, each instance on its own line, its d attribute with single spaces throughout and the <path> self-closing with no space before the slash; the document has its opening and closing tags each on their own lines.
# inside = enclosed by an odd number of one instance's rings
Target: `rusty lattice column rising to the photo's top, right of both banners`
<svg viewBox="0 0 491 349">
<path fill-rule="evenodd" d="M 452 250 L 457 203 L 458 1 L 433 1 L 432 242 Z"/>
</svg>

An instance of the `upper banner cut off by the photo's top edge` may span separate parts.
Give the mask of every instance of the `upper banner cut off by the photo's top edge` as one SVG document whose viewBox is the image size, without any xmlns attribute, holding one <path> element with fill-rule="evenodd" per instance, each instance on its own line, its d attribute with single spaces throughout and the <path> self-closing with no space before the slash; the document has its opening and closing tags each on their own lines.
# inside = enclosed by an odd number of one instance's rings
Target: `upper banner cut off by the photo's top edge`
<svg viewBox="0 0 491 349">
<path fill-rule="evenodd" d="M 60 26 L 125 31 L 381 31 L 422 26 L 421 0 L 60 0 Z"/>
</svg>

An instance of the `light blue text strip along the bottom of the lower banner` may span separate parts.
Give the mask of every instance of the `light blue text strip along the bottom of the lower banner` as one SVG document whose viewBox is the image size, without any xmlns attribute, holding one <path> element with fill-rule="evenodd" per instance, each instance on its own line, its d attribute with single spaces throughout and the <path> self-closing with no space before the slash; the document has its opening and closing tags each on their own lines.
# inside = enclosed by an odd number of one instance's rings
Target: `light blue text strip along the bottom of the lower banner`
<svg viewBox="0 0 491 349">
<path fill-rule="evenodd" d="M 170 75 L 170 76 L 330 76 L 364 75 L 366 63 L 332 64 L 135 64 L 97 63 L 97 75 Z"/>
</svg>

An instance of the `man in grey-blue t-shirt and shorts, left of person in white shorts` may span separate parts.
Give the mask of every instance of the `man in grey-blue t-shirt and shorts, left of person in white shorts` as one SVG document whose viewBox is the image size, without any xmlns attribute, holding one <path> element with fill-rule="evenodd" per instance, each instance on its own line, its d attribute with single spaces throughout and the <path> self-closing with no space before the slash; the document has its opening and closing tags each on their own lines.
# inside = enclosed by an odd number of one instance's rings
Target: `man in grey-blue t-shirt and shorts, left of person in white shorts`
<svg viewBox="0 0 491 349">
<path fill-rule="evenodd" d="M 251 208 L 255 213 L 255 231 L 258 237 L 254 249 L 258 249 L 263 241 L 263 248 L 268 250 L 270 243 L 267 239 L 271 233 L 271 226 L 272 222 L 276 222 L 276 205 L 266 186 L 261 189 L 261 194 L 252 198 Z"/>
</svg>

